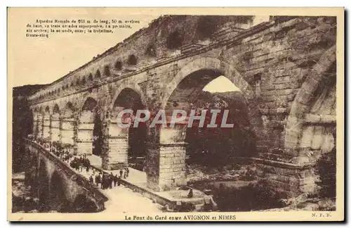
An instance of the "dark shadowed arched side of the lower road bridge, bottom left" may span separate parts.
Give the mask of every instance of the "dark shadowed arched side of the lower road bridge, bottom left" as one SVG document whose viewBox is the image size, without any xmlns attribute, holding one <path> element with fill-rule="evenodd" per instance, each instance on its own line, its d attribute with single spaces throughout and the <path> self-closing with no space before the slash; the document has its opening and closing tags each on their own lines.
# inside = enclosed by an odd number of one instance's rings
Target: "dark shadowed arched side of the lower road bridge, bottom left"
<svg viewBox="0 0 351 228">
<path fill-rule="evenodd" d="M 26 182 L 39 198 L 39 210 L 98 212 L 108 200 L 98 188 L 39 144 L 25 140 Z"/>
</svg>

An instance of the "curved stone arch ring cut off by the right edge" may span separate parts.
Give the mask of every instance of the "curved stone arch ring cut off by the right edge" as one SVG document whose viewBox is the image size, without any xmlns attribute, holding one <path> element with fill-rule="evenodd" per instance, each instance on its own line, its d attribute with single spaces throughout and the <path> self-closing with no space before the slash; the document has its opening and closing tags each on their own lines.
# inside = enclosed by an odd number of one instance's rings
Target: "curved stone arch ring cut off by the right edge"
<svg viewBox="0 0 351 228">
<path fill-rule="evenodd" d="M 315 94 L 326 80 L 324 75 L 336 63 L 336 45 L 323 53 L 314 65 L 291 106 L 290 115 L 286 123 L 285 148 L 286 151 L 296 151 L 299 146 L 300 134 L 305 122 L 305 116 L 310 112 L 315 100 Z"/>
</svg>

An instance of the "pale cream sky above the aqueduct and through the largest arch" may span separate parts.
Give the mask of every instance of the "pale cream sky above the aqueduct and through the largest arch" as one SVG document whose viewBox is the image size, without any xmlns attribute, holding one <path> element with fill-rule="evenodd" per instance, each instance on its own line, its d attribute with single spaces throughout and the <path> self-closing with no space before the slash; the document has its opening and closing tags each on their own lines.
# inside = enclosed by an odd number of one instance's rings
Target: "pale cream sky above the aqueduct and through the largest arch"
<svg viewBox="0 0 351 228">
<path fill-rule="evenodd" d="M 122 12 L 122 13 L 121 13 Z M 8 79 L 13 87 L 25 84 L 48 84 L 79 68 L 93 56 L 103 53 L 162 14 L 171 14 L 166 9 L 140 11 L 131 8 L 117 11 L 117 8 L 10 8 L 8 10 Z M 179 13 L 178 13 L 179 14 Z M 260 23 L 267 16 L 256 17 Z M 49 38 L 26 37 L 27 24 L 39 20 L 139 20 L 131 29 L 114 30 L 113 34 L 49 34 Z M 225 77 L 206 86 L 221 85 L 221 89 L 234 89 Z M 228 90 L 226 90 L 228 91 Z M 232 90 L 230 90 L 232 91 Z"/>
</svg>

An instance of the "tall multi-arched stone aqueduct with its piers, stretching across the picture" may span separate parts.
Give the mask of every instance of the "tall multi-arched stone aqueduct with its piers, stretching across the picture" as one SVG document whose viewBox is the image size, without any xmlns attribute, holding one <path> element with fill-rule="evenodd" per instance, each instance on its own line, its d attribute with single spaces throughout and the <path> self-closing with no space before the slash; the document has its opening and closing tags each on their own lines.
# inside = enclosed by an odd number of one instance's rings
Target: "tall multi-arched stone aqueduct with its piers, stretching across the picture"
<svg viewBox="0 0 351 228">
<path fill-rule="evenodd" d="M 315 191 L 311 165 L 335 144 L 336 18 L 253 21 L 154 20 L 30 96 L 33 134 L 72 145 L 77 154 L 93 153 L 98 135 L 102 167 L 117 169 L 128 163 L 120 108 L 188 110 L 199 91 L 223 75 L 246 100 L 260 177 L 289 193 Z M 184 139 L 181 127 L 147 129 L 147 186 L 164 191 L 186 183 Z"/>
</svg>

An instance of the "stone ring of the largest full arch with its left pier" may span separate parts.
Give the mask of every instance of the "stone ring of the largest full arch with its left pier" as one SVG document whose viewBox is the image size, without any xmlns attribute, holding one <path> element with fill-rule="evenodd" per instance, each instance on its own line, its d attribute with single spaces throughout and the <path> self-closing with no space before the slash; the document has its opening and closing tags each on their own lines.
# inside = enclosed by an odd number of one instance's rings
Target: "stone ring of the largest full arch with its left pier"
<svg viewBox="0 0 351 228">
<path fill-rule="evenodd" d="M 173 77 L 173 80 L 164 88 L 164 96 L 161 100 L 161 109 L 166 110 L 166 115 L 171 115 L 173 109 L 183 109 L 189 113 L 192 109 L 192 101 L 197 94 L 204 89 L 208 82 L 223 75 L 227 77 L 244 96 L 247 105 L 248 124 L 247 132 L 253 140 L 252 150 L 256 150 L 255 132 L 261 122 L 258 107 L 254 105 L 255 91 L 244 80 L 237 70 L 234 69 L 234 61 L 230 63 L 220 61 L 218 58 L 197 58 L 187 63 Z M 163 127 L 150 129 L 153 132 L 152 144 L 147 153 L 147 185 L 157 191 L 186 184 L 185 178 L 185 136 L 187 123 L 176 127 Z M 167 165 L 165 165 L 167 164 Z M 171 167 L 169 167 L 171 166 Z M 156 168 L 155 168 L 156 167 Z"/>
</svg>

